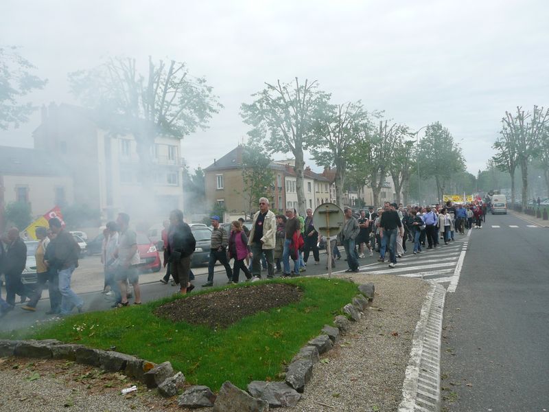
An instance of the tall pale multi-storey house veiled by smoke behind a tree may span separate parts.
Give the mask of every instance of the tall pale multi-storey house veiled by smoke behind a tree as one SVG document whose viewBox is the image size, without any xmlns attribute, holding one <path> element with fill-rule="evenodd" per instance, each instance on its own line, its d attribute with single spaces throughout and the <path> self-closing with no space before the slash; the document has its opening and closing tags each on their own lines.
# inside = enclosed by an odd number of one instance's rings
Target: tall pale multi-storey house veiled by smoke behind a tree
<svg viewBox="0 0 549 412">
<path fill-rule="evenodd" d="M 69 104 L 42 108 L 34 147 L 62 159 L 74 181 L 73 200 L 99 209 L 104 220 L 124 211 L 148 222 L 183 208 L 180 141 L 156 137 L 152 167 L 143 174 L 135 137 L 112 132 L 96 113 Z"/>
</svg>

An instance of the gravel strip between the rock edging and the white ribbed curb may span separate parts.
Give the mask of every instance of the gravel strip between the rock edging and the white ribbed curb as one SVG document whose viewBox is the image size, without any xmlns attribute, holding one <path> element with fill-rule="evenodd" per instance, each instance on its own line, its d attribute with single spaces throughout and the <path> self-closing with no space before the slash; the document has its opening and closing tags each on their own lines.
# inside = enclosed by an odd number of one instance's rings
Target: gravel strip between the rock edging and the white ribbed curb
<svg viewBox="0 0 549 412">
<path fill-rule="evenodd" d="M 351 278 L 375 284 L 371 308 L 322 356 L 327 363 L 314 366 L 297 407 L 278 411 L 397 411 L 414 330 L 430 286 L 392 275 Z"/>
</svg>

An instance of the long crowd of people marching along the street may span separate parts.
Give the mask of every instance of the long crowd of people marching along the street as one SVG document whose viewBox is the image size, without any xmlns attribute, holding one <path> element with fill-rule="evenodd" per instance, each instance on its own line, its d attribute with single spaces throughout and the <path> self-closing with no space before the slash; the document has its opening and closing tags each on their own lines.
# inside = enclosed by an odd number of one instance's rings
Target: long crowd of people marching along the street
<svg viewBox="0 0 549 412">
<path fill-rule="evenodd" d="M 259 200 L 259 210 L 254 214 L 251 227 L 244 225 L 240 218 L 231 222 L 231 230 L 220 225 L 219 216 L 211 216 L 211 249 L 208 264 L 207 282 L 202 287 L 213 286 L 214 266 L 220 262 L 229 284 L 240 282 L 240 272 L 246 281 L 261 279 L 261 269 L 267 271 L 271 279 L 275 274 L 282 277 L 299 276 L 306 271 L 309 258 L 320 264 L 321 247 L 329 248 L 325 268 L 335 268 L 340 260 L 339 247 L 345 251 L 346 272 L 357 273 L 359 260 L 366 253 L 373 257 L 379 253 L 378 262 L 388 262 L 393 268 L 397 258 L 405 253 L 422 253 L 425 249 L 435 249 L 442 243 L 453 242 L 456 233 L 465 234 L 465 229 L 482 228 L 486 218 L 486 205 L 482 203 L 454 205 L 410 206 L 384 203 L 383 207 L 353 212 L 344 208 L 344 224 L 337 236 L 329 239 L 316 231 L 312 209 L 306 216 L 288 208 L 284 214 L 274 214 L 267 198 Z M 21 309 L 35 311 L 38 300 L 47 285 L 50 310 L 48 314 L 65 316 L 74 309 L 82 312 L 84 301 L 71 290 L 71 275 L 78 268 L 79 247 L 73 237 L 65 231 L 60 220 L 49 220 L 49 228 L 36 229 L 36 272 L 38 282 L 35 288 L 27 290 L 21 283 L 21 273 L 25 268 L 27 250 L 19 236 L 19 230 L 10 229 L 0 241 L 0 273 L 5 276 L 6 299 L 0 297 L 0 314 L 13 310 L 15 296 L 21 303 L 29 298 Z M 191 256 L 196 248 L 196 240 L 189 225 L 183 220 L 183 212 L 176 209 L 170 219 L 164 222 L 162 232 L 164 244 L 165 276 L 172 285 L 179 286 L 180 293 L 194 289 L 194 273 L 191 270 Z M 233 260 L 231 268 L 229 262 Z M 121 213 L 116 221 L 107 222 L 104 229 L 101 262 L 104 268 L 103 293 L 112 296 L 113 308 L 141 304 L 139 287 L 139 250 L 137 234 L 130 229 L 130 216 Z M 130 287 L 131 286 L 131 287 Z"/>
</svg>

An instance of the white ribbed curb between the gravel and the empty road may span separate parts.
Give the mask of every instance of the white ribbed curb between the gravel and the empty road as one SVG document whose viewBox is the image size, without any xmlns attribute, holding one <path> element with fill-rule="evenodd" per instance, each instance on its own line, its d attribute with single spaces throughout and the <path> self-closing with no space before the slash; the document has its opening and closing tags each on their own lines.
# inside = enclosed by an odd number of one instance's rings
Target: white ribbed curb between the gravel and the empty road
<svg viewBox="0 0 549 412">
<path fill-rule="evenodd" d="M 414 331 L 399 412 L 441 410 L 441 334 L 446 290 L 431 283 Z"/>
</svg>

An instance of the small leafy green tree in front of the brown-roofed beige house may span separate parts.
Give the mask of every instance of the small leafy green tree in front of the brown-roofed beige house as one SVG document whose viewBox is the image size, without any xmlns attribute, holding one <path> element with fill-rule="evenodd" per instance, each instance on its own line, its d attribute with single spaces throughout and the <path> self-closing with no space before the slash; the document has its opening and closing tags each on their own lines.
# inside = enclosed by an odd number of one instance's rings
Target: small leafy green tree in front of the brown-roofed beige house
<svg viewBox="0 0 549 412">
<path fill-rule="evenodd" d="M 242 150 L 242 179 L 244 179 L 244 196 L 248 199 L 248 212 L 257 209 L 259 198 L 266 197 L 271 205 L 274 172 L 269 168 L 272 159 L 261 146 L 248 141 Z"/>
</svg>

